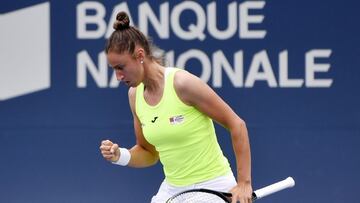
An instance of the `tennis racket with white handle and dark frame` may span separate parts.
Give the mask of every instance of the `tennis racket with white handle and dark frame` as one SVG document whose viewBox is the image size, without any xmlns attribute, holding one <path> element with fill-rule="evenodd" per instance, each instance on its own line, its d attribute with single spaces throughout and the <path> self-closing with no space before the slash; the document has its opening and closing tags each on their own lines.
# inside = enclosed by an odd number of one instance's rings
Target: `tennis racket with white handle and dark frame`
<svg viewBox="0 0 360 203">
<path fill-rule="evenodd" d="M 261 199 L 280 190 L 293 187 L 294 185 L 294 179 L 288 177 L 282 181 L 255 190 L 252 194 L 252 200 Z M 192 189 L 172 196 L 166 203 L 231 203 L 231 193 L 209 189 Z"/>
</svg>

